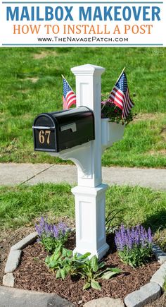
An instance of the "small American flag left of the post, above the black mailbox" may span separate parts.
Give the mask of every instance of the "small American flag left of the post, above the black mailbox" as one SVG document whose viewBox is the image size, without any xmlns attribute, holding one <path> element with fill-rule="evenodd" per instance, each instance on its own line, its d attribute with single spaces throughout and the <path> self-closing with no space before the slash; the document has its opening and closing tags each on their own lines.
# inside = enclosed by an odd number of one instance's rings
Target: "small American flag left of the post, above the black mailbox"
<svg viewBox="0 0 166 307">
<path fill-rule="evenodd" d="M 72 104 L 76 104 L 76 95 L 68 82 L 63 78 L 63 109 L 69 109 Z"/>
</svg>

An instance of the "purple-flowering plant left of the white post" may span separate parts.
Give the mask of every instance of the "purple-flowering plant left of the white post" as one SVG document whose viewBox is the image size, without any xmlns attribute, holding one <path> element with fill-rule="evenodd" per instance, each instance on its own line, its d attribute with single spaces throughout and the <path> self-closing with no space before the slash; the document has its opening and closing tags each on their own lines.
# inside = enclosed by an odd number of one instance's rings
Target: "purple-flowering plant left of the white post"
<svg viewBox="0 0 166 307">
<path fill-rule="evenodd" d="M 68 240 L 67 227 L 63 222 L 58 224 L 49 224 L 41 217 L 39 225 L 35 224 L 35 229 L 39 236 L 39 241 L 43 244 L 46 251 L 53 253 L 58 246 L 63 246 Z"/>
</svg>

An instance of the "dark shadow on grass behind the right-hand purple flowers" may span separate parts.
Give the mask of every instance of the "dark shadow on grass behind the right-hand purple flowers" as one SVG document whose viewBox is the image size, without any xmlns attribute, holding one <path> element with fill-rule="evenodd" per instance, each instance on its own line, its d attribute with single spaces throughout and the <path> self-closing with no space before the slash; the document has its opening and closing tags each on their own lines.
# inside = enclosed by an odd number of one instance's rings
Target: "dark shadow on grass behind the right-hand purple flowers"
<svg viewBox="0 0 166 307">
<path fill-rule="evenodd" d="M 151 227 L 153 233 L 158 229 L 166 228 L 166 210 L 162 209 L 158 212 L 155 212 L 154 215 L 149 216 L 143 223 L 143 227 L 146 229 Z"/>
</svg>

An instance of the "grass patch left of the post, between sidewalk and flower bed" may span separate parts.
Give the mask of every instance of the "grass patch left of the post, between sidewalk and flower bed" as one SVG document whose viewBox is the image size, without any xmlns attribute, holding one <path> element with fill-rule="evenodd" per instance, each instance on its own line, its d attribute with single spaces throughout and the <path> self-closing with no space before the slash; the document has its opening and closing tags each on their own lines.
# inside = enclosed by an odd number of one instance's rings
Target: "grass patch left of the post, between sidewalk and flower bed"
<svg viewBox="0 0 166 307">
<path fill-rule="evenodd" d="M 0 190 L 0 228 L 21 227 L 48 212 L 56 217 L 74 217 L 74 198 L 68 184 L 40 183 Z"/>
</svg>

